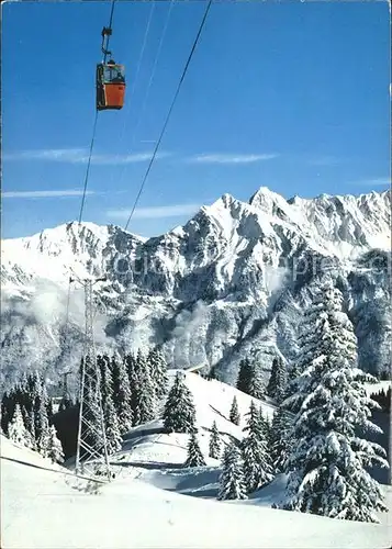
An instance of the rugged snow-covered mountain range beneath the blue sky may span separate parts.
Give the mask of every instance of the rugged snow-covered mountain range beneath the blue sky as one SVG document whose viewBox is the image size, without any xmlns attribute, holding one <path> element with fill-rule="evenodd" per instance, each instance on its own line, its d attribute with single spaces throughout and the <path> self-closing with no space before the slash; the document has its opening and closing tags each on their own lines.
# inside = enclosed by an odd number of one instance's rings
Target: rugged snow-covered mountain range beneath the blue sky
<svg viewBox="0 0 392 549">
<path fill-rule="evenodd" d="M 3 377 L 30 368 L 49 378 L 82 352 L 83 289 L 94 284 L 98 350 L 164 345 L 171 367 L 214 367 L 228 382 L 249 351 L 269 370 L 296 351 L 310 292 L 332 276 L 359 340 L 360 366 L 385 374 L 391 336 L 391 193 L 285 200 L 260 188 L 224 194 L 184 226 L 142 238 L 76 222 L 2 240 Z M 267 373 L 266 373 L 267 376 Z"/>
</svg>

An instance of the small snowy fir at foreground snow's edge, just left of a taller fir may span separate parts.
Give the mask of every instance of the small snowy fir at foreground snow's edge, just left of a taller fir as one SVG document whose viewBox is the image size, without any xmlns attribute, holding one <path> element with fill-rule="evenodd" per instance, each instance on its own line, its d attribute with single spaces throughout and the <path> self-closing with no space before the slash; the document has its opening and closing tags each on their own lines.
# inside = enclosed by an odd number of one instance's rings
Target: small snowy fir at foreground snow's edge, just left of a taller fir
<svg viewBox="0 0 392 549">
<path fill-rule="evenodd" d="M 220 474 L 219 500 L 246 500 L 246 485 L 240 451 L 232 441 L 224 451 Z"/>
</svg>

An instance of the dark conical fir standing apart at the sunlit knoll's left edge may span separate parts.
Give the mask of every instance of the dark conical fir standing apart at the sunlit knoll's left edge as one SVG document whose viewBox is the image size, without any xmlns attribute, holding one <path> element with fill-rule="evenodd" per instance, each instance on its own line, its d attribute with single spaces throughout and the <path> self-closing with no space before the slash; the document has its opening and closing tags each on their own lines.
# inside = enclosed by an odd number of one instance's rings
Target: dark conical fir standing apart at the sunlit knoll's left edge
<svg viewBox="0 0 392 549">
<path fill-rule="evenodd" d="M 168 433 L 193 433 L 195 429 L 195 408 L 192 393 L 184 384 L 183 374 L 180 372 L 177 372 L 167 396 L 164 425 Z"/>
</svg>

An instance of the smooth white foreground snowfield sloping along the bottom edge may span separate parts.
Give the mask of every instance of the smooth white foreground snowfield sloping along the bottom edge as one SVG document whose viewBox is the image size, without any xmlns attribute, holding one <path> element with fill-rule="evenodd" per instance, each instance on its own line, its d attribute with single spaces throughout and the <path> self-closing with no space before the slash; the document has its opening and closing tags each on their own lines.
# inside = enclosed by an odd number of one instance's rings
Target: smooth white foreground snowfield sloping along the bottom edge
<svg viewBox="0 0 392 549">
<path fill-rule="evenodd" d="M 2 548 L 385 548 L 391 525 L 370 525 L 187 497 L 120 475 L 99 494 L 1 437 Z M 190 472 L 190 474 L 192 474 Z"/>
</svg>

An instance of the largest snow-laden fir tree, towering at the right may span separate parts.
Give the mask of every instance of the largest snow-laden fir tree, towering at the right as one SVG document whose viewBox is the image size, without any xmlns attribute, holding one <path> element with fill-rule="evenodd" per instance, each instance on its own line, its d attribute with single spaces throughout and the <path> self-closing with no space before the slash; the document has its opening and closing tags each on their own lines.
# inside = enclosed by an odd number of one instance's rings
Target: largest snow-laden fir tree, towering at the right
<svg viewBox="0 0 392 549">
<path fill-rule="evenodd" d="M 295 380 L 296 392 L 283 404 L 299 408 L 287 460 L 288 484 L 280 507 L 328 517 L 379 522 L 387 511 L 378 482 L 367 469 L 388 467 L 385 451 L 362 438 L 377 404 L 366 392 L 370 381 L 357 367 L 357 340 L 343 312 L 341 293 L 332 282 L 316 289 L 305 315 Z"/>
</svg>

